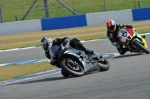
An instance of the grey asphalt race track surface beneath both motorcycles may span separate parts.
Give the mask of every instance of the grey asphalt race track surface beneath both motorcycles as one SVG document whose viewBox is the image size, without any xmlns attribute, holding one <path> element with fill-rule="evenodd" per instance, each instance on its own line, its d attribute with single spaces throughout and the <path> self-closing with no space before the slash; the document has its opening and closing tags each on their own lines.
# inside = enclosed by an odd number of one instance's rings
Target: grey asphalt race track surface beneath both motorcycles
<svg viewBox="0 0 150 99">
<path fill-rule="evenodd" d="M 149 47 L 150 35 L 146 40 Z M 98 53 L 117 53 L 108 40 L 84 44 Z M 45 58 L 41 48 L 0 53 L 0 63 L 40 58 Z M 0 99 L 150 99 L 149 59 L 149 54 L 128 52 L 110 59 L 106 72 L 66 79 L 56 73 L 0 86 Z"/>
</svg>

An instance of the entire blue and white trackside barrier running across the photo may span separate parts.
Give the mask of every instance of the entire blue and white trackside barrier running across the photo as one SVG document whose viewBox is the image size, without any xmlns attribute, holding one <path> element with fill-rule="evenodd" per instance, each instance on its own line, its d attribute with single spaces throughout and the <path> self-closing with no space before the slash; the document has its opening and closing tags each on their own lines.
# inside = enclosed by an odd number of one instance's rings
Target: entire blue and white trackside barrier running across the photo
<svg viewBox="0 0 150 99">
<path fill-rule="evenodd" d="M 0 34 L 35 32 L 105 24 L 108 19 L 116 22 L 132 22 L 150 19 L 150 8 L 89 13 L 58 18 L 44 18 L 0 23 Z"/>
</svg>

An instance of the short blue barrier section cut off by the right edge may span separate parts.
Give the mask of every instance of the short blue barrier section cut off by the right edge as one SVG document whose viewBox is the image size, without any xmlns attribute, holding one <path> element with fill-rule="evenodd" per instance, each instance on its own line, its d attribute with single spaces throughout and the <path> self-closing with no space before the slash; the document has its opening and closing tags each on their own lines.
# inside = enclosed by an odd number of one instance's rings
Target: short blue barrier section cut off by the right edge
<svg viewBox="0 0 150 99">
<path fill-rule="evenodd" d="M 150 20 L 150 8 L 132 9 L 133 21 Z"/>
</svg>

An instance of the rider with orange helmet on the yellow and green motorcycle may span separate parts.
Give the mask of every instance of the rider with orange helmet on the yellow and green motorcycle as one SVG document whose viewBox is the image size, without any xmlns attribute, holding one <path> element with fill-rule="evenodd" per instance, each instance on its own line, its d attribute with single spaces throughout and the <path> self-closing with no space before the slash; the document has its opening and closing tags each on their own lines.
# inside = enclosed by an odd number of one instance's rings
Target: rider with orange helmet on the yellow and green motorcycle
<svg viewBox="0 0 150 99">
<path fill-rule="evenodd" d="M 121 55 L 124 55 L 127 51 L 129 51 L 129 49 L 124 47 L 123 44 L 119 41 L 118 31 L 120 30 L 120 28 L 132 28 L 135 31 L 134 27 L 132 25 L 117 24 L 112 19 L 107 20 L 106 27 L 107 27 L 107 37 L 111 41 L 112 45 L 116 46 L 118 52 Z"/>
</svg>

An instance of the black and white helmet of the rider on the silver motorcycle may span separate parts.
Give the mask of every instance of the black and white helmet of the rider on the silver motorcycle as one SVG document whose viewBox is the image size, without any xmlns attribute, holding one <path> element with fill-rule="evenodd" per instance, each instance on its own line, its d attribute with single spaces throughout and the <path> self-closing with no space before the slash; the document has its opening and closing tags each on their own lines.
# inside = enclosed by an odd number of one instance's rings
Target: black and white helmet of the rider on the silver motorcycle
<svg viewBox="0 0 150 99">
<path fill-rule="evenodd" d="M 50 37 L 48 37 L 48 36 L 45 36 L 45 37 L 43 37 L 43 38 L 41 39 L 41 46 L 43 47 L 43 49 L 44 49 L 45 51 L 47 51 L 48 48 L 52 46 L 52 44 L 53 44 L 53 41 L 52 41 L 52 39 L 51 39 Z"/>
</svg>

